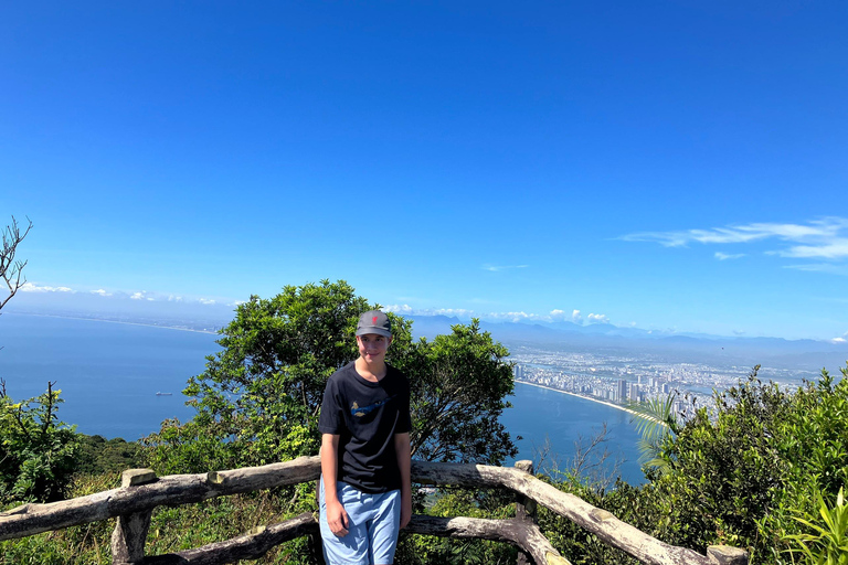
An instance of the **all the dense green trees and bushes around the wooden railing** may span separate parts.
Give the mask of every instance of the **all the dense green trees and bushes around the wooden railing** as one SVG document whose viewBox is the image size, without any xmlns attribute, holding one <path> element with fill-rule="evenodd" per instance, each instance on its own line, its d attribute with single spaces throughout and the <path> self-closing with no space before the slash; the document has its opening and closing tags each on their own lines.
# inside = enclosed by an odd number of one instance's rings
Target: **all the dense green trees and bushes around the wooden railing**
<svg viewBox="0 0 848 565">
<path fill-rule="evenodd" d="M 14 403 L 3 395 L 0 428 L 2 509 L 114 488 L 118 471 L 139 465 L 160 475 L 262 465 L 314 455 L 324 383 L 356 356 L 353 331 L 372 308 L 343 281 L 286 287 L 253 297 L 222 330 L 222 351 L 184 391 L 197 409 L 167 420 L 141 443 L 85 437 L 60 422 L 59 392 Z M 393 318 L 390 362 L 413 386 L 415 457 L 501 463 L 515 447 L 498 423 L 512 391 L 507 350 L 476 322 L 432 341 L 413 340 Z M 544 477 L 675 545 L 745 547 L 752 564 L 848 563 L 848 369 L 794 391 L 757 379 L 717 393 L 649 438 L 649 481 L 640 487 L 595 481 L 580 469 Z M 654 428 L 656 429 L 656 428 Z M 159 509 L 147 551 L 160 554 L 225 540 L 251 527 L 315 509 L 314 484 L 201 504 Z M 509 494 L 443 490 L 416 500 L 416 512 L 506 518 Z M 540 509 L 540 526 L 574 564 L 634 563 L 570 522 Z M 113 523 L 2 542 L 8 563 L 108 563 Z M 315 563 L 308 541 L 280 546 L 262 563 Z M 403 536 L 398 563 L 515 563 L 504 544 Z M 830 561 L 828 561 L 830 559 Z M 1 561 L 1 559 L 0 559 Z"/>
</svg>

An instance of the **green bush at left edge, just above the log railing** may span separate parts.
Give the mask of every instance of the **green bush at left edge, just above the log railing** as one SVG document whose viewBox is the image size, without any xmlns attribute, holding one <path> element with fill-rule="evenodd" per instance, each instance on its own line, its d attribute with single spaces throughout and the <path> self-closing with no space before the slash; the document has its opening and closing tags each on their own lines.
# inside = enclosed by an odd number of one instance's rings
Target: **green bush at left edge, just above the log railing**
<svg viewBox="0 0 848 565">
<path fill-rule="evenodd" d="M 59 420 L 64 402 L 47 392 L 15 403 L 0 380 L 0 503 L 61 499 L 74 471 L 78 439 L 74 427 Z"/>
</svg>

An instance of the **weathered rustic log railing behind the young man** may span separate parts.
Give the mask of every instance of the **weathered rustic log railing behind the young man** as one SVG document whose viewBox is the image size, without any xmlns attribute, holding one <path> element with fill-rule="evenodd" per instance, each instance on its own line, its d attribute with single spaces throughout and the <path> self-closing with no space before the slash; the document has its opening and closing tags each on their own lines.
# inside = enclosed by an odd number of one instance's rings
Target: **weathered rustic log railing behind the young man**
<svg viewBox="0 0 848 565">
<path fill-rule="evenodd" d="M 496 540 L 519 548 L 519 563 L 566 565 L 569 561 L 551 545 L 534 521 L 533 509 L 542 504 L 617 547 L 650 565 L 743 565 L 744 551 L 729 546 L 711 546 L 707 555 L 668 545 L 612 513 L 582 499 L 562 492 L 531 472 L 530 461 L 516 468 L 485 465 L 431 463 L 413 461 L 412 480 L 421 484 L 468 488 L 506 488 L 518 495 L 516 518 L 484 520 L 474 518 L 436 518 L 414 515 L 406 532 L 437 536 Z M 232 540 L 167 555 L 145 556 L 145 542 L 153 509 L 161 505 L 190 504 L 215 497 L 271 489 L 318 479 L 318 457 L 247 467 L 205 475 L 170 475 L 156 477 L 148 469 L 125 471 L 120 488 L 49 504 L 25 504 L 0 514 L 0 541 L 25 537 L 41 532 L 117 518 L 112 535 L 113 564 L 212 565 L 257 558 L 283 542 L 318 534 L 318 522 L 304 513 L 285 522 L 252 530 Z"/>
</svg>

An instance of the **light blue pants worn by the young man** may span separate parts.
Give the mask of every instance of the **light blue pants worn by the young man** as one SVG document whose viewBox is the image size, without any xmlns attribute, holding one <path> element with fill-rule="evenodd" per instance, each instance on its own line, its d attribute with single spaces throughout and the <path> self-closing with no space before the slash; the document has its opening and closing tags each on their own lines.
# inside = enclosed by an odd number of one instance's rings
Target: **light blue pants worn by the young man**
<svg viewBox="0 0 848 565">
<path fill-rule="evenodd" d="M 319 490 L 324 558 L 328 565 L 391 565 L 401 527 L 401 491 L 369 494 L 339 481 L 339 501 L 348 513 L 348 534 L 338 537 L 327 524 L 324 479 Z"/>
</svg>

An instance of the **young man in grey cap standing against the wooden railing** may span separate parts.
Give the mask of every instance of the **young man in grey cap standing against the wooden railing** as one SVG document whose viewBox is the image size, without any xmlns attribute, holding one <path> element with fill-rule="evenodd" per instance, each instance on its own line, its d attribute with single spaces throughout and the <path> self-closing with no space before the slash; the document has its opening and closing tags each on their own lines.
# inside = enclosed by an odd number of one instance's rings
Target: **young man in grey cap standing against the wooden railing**
<svg viewBox="0 0 848 565">
<path fill-rule="evenodd" d="M 385 364 L 391 343 L 389 318 L 363 313 L 359 358 L 324 392 L 319 503 L 328 565 L 391 565 L 412 515 L 410 384 Z"/>
</svg>

